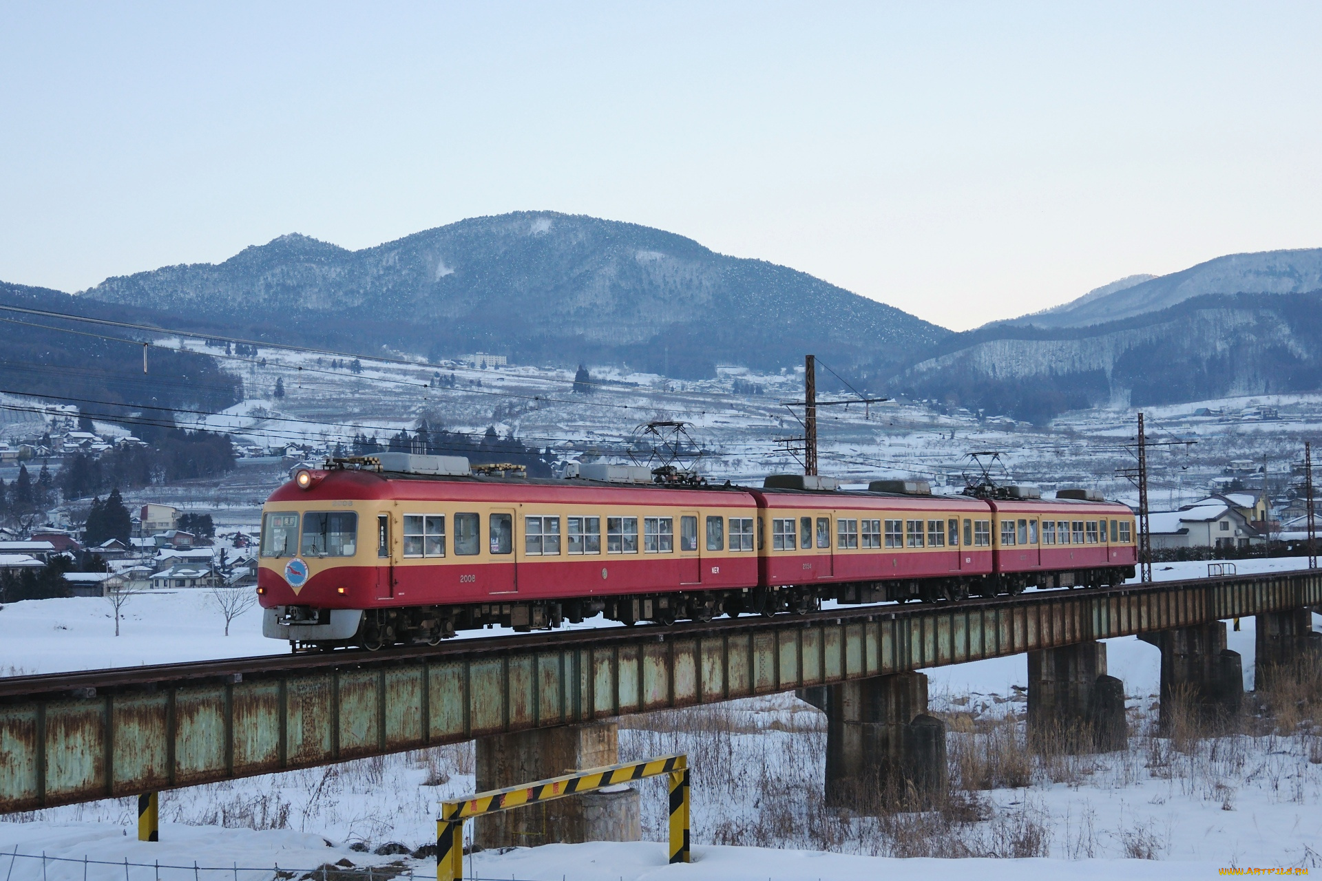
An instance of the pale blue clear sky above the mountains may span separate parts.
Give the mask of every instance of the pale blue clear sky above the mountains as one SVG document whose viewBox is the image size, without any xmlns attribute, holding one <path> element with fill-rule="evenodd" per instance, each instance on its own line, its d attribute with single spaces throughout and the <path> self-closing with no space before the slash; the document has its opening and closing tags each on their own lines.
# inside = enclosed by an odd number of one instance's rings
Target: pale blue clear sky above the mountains
<svg viewBox="0 0 1322 881">
<path fill-rule="evenodd" d="M 632 221 L 964 329 L 1322 246 L 1319 4 L 0 3 L 0 279 Z"/>
</svg>

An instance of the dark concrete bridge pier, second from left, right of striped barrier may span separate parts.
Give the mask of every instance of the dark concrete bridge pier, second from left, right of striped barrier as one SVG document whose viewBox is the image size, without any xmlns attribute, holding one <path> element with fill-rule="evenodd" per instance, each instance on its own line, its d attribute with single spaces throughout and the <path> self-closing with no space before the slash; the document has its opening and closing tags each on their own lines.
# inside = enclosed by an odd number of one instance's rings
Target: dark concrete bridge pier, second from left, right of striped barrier
<svg viewBox="0 0 1322 881">
<path fill-rule="evenodd" d="M 797 692 L 826 713 L 826 804 L 869 811 L 927 803 L 948 785 L 945 722 L 927 713 L 927 676 L 873 676 Z"/>
</svg>

